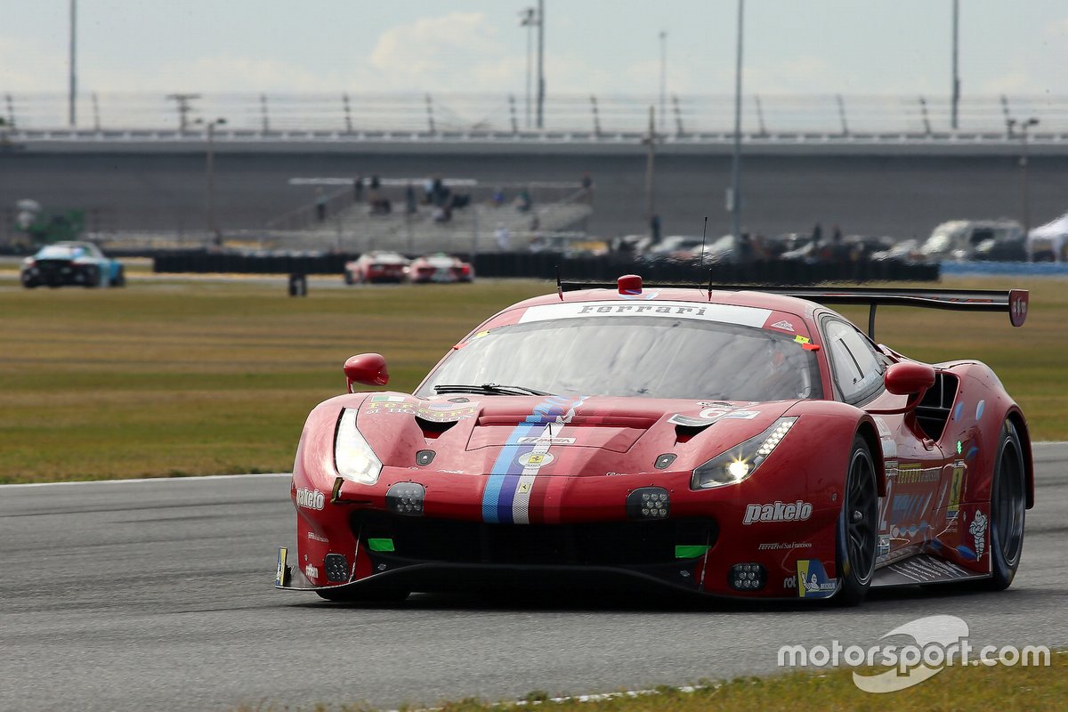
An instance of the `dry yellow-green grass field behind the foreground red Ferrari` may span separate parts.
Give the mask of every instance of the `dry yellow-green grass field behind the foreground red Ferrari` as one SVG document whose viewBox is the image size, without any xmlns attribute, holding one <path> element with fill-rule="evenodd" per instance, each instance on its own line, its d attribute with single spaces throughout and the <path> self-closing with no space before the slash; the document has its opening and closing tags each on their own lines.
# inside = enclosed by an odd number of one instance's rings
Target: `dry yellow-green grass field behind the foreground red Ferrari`
<svg viewBox="0 0 1068 712">
<path fill-rule="evenodd" d="M 278 280 L 134 275 L 125 289 L 0 281 L 0 481 L 288 471 L 308 411 L 344 390 L 354 353 L 386 355 L 411 391 L 480 320 L 552 291 L 532 281 L 316 288 Z M 340 280 L 339 280 L 340 282 Z M 884 308 L 879 341 L 913 358 L 977 358 L 1037 440 L 1068 439 L 1068 282 L 945 281 L 1032 289 L 1023 329 L 1000 314 Z M 844 310 L 866 323 L 865 310 Z"/>
</svg>

